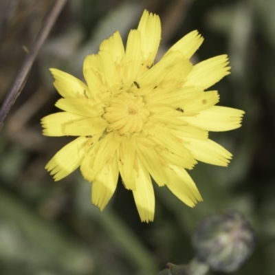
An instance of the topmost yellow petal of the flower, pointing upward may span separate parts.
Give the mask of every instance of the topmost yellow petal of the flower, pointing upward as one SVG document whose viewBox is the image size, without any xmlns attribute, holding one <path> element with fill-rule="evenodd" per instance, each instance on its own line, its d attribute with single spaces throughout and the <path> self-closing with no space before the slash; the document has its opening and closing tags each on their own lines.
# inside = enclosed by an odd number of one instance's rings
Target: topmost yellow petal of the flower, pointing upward
<svg viewBox="0 0 275 275">
<path fill-rule="evenodd" d="M 159 17 L 144 10 L 137 30 L 140 31 L 142 41 L 142 62 L 146 62 L 148 67 L 151 67 L 157 54 L 162 32 Z"/>
</svg>

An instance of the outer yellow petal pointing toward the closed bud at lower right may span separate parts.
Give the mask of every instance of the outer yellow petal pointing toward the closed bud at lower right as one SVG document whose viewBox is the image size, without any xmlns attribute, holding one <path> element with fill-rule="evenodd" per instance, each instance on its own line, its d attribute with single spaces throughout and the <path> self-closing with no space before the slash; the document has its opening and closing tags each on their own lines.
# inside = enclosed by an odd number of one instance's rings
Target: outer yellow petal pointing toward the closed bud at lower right
<svg viewBox="0 0 275 275">
<path fill-rule="evenodd" d="M 197 201 L 202 201 L 199 190 L 186 170 L 179 166 L 170 165 L 167 170 L 169 182 L 167 187 L 181 201 L 190 207 L 194 207 Z"/>
</svg>

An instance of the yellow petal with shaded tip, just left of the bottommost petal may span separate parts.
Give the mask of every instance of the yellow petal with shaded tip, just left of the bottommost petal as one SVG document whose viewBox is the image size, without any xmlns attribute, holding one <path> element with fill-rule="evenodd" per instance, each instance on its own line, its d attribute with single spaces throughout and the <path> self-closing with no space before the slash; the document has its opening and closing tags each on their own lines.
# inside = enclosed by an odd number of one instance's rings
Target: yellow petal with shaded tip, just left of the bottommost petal
<svg viewBox="0 0 275 275">
<path fill-rule="evenodd" d="M 91 203 L 102 211 L 113 196 L 118 184 L 118 163 L 113 157 L 111 164 L 104 166 L 91 187 Z"/>
</svg>

